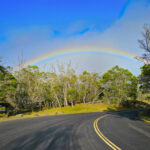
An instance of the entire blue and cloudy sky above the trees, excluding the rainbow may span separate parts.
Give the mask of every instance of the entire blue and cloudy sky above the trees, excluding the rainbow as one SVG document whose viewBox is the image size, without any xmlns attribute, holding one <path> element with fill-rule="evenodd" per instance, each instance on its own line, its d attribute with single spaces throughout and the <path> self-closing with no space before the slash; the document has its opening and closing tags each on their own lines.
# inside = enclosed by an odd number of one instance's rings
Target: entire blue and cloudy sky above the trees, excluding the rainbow
<svg viewBox="0 0 150 150">
<path fill-rule="evenodd" d="M 119 50 L 140 56 L 144 24 L 150 24 L 150 0 L 0 0 L 0 56 L 17 66 L 53 51 L 80 47 Z M 62 51 L 63 51 L 62 50 Z M 70 50 L 71 51 L 71 50 Z M 101 50 L 105 51 L 105 50 Z M 134 57 L 133 57 L 134 58 Z M 114 65 L 140 74 L 138 61 L 108 53 L 74 53 L 35 63 L 40 69 L 70 62 L 77 71 L 103 73 Z"/>
</svg>

